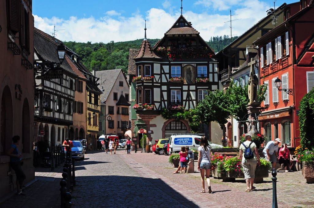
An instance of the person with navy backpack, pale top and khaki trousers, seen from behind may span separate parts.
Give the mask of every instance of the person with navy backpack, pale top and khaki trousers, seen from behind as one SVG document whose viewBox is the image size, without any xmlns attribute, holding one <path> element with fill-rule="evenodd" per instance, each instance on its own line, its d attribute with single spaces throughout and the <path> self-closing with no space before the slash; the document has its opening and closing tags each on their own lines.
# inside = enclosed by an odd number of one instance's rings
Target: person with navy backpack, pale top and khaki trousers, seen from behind
<svg viewBox="0 0 314 208">
<path fill-rule="evenodd" d="M 261 161 L 259 159 L 256 144 L 251 141 L 251 134 L 246 133 L 245 139 L 245 142 L 241 143 L 240 145 L 240 159 L 242 158 L 242 168 L 244 173 L 244 179 L 246 181 L 245 191 L 252 191 L 253 189 L 255 189 L 253 183 L 255 178 L 256 165 L 260 166 Z"/>
</svg>

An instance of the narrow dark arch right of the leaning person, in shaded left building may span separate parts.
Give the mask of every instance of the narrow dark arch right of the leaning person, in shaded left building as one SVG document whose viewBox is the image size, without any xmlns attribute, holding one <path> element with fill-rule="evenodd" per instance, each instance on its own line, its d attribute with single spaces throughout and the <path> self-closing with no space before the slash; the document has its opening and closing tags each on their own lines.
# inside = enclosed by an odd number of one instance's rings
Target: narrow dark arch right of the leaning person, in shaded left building
<svg viewBox="0 0 314 208">
<path fill-rule="evenodd" d="M 30 106 L 25 98 L 22 110 L 22 152 L 30 152 Z"/>
</svg>

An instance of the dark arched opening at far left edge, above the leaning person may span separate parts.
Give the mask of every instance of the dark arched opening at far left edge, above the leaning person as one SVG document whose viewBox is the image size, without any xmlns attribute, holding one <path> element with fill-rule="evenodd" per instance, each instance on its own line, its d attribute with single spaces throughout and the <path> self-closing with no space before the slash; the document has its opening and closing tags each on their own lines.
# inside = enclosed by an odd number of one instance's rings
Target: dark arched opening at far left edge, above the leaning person
<svg viewBox="0 0 314 208">
<path fill-rule="evenodd" d="M 1 99 L 1 121 L 0 121 L 0 155 L 12 144 L 13 137 L 13 107 L 10 88 L 4 87 Z"/>
</svg>

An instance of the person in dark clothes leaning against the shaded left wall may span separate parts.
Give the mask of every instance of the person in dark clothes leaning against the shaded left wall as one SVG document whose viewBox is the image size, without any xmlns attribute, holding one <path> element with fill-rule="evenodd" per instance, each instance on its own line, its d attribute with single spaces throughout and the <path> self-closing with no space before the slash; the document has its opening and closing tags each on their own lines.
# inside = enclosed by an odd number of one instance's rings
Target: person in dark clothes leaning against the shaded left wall
<svg viewBox="0 0 314 208">
<path fill-rule="evenodd" d="M 19 146 L 19 136 L 14 136 L 12 138 L 13 144 L 7 151 L 7 155 L 10 156 L 10 166 L 15 171 L 16 174 L 16 188 L 17 188 L 17 195 L 25 195 L 22 193 L 23 181 L 26 179 L 26 176 L 23 172 L 22 165 L 22 154 L 19 153 L 18 147 Z"/>
</svg>

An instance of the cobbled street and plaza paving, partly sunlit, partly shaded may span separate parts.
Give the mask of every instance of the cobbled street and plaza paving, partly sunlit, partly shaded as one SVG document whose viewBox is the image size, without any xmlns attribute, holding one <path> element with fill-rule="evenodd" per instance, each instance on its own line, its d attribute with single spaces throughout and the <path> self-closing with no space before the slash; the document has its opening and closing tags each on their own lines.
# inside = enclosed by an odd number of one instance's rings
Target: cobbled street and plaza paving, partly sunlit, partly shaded
<svg viewBox="0 0 314 208">
<path fill-rule="evenodd" d="M 245 192 L 244 180 L 222 182 L 211 178 L 213 193 L 200 193 L 200 174 L 172 174 L 168 156 L 154 153 L 127 155 L 90 152 L 76 162 L 72 207 L 260 207 L 270 208 L 272 180 L 269 174 L 257 189 Z M 0 207 L 60 207 L 62 168 L 54 172 L 37 168 L 36 181 Z M 279 207 L 314 207 L 314 186 L 301 172 L 278 173 Z M 44 196 L 44 197 L 43 197 Z M 254 204 L 247 205 L 247 201 Z"/>
</svg>

